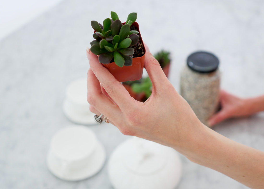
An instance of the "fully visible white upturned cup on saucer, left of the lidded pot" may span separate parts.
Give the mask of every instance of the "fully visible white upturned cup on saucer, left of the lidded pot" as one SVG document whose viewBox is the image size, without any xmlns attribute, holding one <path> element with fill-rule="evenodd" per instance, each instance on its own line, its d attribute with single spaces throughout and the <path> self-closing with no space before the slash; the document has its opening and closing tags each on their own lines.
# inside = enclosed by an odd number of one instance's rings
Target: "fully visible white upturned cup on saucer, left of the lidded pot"
<svg viewBox="0 0 264 189">
<path fill-rule="evenodd" d="M 55 176 L 76 181 L 96 174 L 105 162 L 105 150 L 85 126 L 68 126 L 51 139 L 47 165 Z"/>
</svg>

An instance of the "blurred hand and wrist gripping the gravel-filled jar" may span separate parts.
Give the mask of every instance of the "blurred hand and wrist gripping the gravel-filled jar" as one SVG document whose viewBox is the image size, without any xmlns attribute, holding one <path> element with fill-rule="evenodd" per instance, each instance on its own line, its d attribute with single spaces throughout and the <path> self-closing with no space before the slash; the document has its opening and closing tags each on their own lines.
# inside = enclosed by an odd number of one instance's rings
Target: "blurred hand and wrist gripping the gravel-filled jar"
<svg viewBox="0 0 264 189">
<path fill-rule="evenodd" d="M 242 99 L 222 90 L 220 93 L 221 110 L 210 118 L 209 125 L 213 126 L 228 118 L 250 116 L 262 111 L 264 109 L 263 99 L 263 96 Z"/>
</svg>

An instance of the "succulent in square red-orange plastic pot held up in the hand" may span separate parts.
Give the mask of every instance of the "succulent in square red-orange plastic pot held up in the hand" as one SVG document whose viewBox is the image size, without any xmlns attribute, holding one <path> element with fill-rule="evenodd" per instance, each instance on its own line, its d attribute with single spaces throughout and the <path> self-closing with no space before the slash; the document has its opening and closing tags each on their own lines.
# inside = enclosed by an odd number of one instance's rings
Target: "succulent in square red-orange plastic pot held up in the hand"
<svg viewBox="0 0 264 189">
<path fill-rule="evenodd" d="M 119 82 L 139 80 L 146 50 L 135 22 L 137 13 L 130 13 L 125 23 L 115 12 L 111 12 L 111 18 L 105 19 L 103 25 L 91 21 L 95 40 L 90 50 Z"/>
</svg>

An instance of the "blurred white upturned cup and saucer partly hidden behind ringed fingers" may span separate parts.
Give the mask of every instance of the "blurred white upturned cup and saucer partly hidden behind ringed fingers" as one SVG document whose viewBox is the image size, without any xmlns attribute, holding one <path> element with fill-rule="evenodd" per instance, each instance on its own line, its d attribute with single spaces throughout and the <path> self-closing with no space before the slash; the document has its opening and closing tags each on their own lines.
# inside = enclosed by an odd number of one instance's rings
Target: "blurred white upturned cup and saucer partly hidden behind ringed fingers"
<svg viewBox="0 0 264 189">
<path fill-rule="evenodd" d="M 72 122 L 82 125 L 94 125 L 94 114 L 89 110 L 87 102 L 86 79 L 72 81 L 66 89 L 63 112 Z"/>
</svg>

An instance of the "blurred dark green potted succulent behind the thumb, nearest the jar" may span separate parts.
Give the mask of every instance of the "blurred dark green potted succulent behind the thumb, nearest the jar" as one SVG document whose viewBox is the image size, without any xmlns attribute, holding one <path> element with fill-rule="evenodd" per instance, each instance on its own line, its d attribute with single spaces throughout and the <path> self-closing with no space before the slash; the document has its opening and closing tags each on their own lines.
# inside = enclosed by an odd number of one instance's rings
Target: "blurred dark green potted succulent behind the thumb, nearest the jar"
<svg viewBox="0 0 264 189">
<path fill-rule="evenodd" d="M 158 53 L 154 54 L 154 57 L 158 60 L 159 64 L 165 75 L 168 77 L 169 75 L 169 66 L 171 63 L 171 59 L 169 56 L 170 52 L 161 50 Z"/>
</svg>

